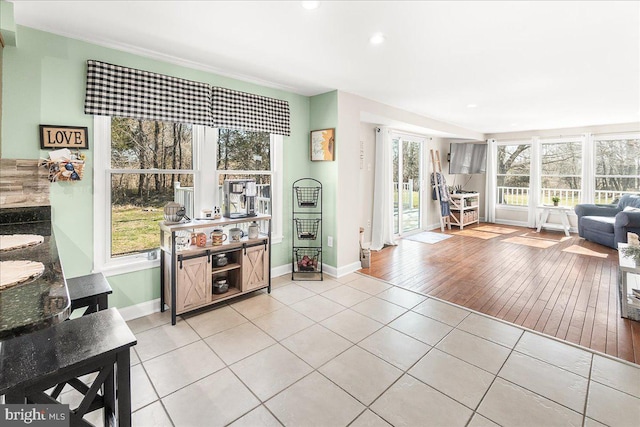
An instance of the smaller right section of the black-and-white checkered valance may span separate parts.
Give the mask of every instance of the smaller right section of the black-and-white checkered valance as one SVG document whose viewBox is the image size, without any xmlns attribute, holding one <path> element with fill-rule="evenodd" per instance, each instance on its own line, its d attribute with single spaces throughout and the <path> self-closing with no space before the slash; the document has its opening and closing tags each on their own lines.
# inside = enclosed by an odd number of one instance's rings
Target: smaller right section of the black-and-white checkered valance
<svg viewBox="0 0 640 427">
<path fill-rule="evenodd" d="M 213 126 L 289 135 L 289 103 L 213 87 Z"/>
</svg>

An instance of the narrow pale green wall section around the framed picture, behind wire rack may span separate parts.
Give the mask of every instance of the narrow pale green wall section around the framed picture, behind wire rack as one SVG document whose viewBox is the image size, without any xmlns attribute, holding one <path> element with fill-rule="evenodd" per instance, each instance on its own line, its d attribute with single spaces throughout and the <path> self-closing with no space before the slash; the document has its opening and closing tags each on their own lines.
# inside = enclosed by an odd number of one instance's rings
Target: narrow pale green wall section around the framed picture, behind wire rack
<svg viewBox="0 0 640 427">
<path fill-rule="evenodd" d="M 311 97 L 310 123 L 311 130 L 329 129 L 338 127 L 338 92 L 327 92 Z M 337 129 L 336 129 L 337 130 Z M 335 156 L 340 155 L 340 135 L 335 134 Z M 322 261 L 331 266 L 337 266 L 338 236 L 336 233 L 336 191 L 338 162 L 310 162 L 311 166 L 307 176 L 315 178 L 322 183 L 322 234 L 323 254 Z M 303 178 L 301 176 L 300 178 Z M 327 246 L 327 236 L 333 237 L 333 247 Z"/>
</svg>

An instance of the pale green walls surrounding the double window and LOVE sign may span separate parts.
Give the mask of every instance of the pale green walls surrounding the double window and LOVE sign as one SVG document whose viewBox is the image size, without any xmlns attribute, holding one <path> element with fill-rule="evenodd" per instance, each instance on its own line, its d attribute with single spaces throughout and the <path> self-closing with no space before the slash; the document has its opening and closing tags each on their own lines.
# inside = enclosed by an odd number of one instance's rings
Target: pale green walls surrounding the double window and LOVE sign
<svg viewBox="0 0 640 427">
<path fill-rule="evenodd" d="M 328 178 L 320 180 L 323 184 L 331 181 L 335 165 L 312 165 L 309 160 L 309 131 L 318 127 L 335 127 L 335 93 L 320 95 L 310 100 L 306 96 L 156 61 L 27 27 L 18 26 L 17 33 L 17 47 L 7 46 L 4 49 L 2 156 L 22 159 L 47 157 L 47 152 L 39 148 L 40 124 L 89 128 L 90 149 L 86 153 L 87 167 L 82 181 L 51 184 L 54 231 L 67 277 L 88 274 L 93 265 L 93 119 L 92 116 L 83 113 L 88 59 L 168 74 L 289 102 L 291 136 L 284 137 L 285 237 L 281 244 L 273 245 L 272 264 L 277 267 L 290 262 L 291 184 L 296 179 L 310 174 L 320 177 L 326 173 Z M 310 120 L 310 117 L 314 119 Z M 337 149 L 339 150 L 339 146 Z M 329 186 L 326 187 L 329 190 Z M 335 195 L 331 195 L 331 191 L 327 193 L 331 200 L 335 201 Z M 331 211 L 329 205 L 325 202 L 327 212 Z M 335 209 L 333 211 L 335 212 Z M 329 219 L 327 215 L 327 220 Z M 335 253 L 328 252 L 328 255 L 330 256 L 324 260 L 325 263 L 335 266 Z M 112 276 L 109 277 L 109 282 L 114 288 L 111 301 L 117 307 L 126 307 L 160 296 L 160 275 L 157 268 Z"/>
</svg>

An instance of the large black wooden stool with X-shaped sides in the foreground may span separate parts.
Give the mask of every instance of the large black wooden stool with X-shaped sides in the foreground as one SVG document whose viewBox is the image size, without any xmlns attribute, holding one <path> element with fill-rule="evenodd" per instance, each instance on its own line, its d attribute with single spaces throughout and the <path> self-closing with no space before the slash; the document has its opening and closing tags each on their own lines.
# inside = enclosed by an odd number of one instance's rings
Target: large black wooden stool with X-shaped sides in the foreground
<svg viewBox="0 0 640 427">
<path fill-rule="evenodd" d="M 0 395 L 5 395 L 5 403 L 55 404 L 60 403 L 56 398 L 69 384 L 84 395 L 80 405 L 70 411 L 71 426 L 89 426 L 82 417 L 103 408 L 105 426 L 129 427 L 129 349 L 136 344 L 115 308 L 3 341 Z M 98 376 L 90 386 L 78 379 L 93 372 Z M 52 387 L 55 389 L 48 395 L 46 390 Z"/>
</svg>

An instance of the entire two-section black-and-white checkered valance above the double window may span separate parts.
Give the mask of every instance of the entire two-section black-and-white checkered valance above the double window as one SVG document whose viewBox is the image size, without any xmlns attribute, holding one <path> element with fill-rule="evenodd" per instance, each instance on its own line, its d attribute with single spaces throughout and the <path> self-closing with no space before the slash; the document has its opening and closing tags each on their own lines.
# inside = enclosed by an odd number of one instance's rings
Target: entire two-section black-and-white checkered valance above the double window
<svg viewBox="0 0 640 427">
<path fill-rule="evenodd" d="M 287 101 L 95 60 L 84 112 L 290 134 Z"/>
</svg>

